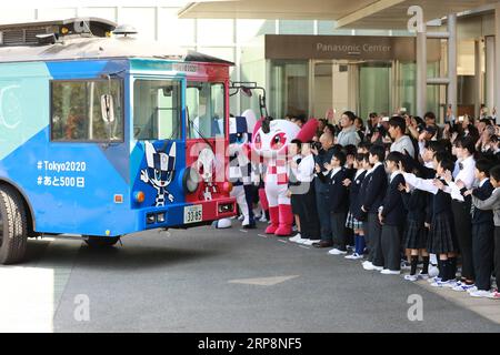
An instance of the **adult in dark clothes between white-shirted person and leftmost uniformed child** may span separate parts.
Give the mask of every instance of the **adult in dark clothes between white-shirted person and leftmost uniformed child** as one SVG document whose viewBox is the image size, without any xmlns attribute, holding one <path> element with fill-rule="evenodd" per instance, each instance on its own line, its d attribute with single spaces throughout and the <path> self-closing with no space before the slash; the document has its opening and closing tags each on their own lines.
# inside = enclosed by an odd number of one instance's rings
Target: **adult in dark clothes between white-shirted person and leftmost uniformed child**
<svg viewBox="0 0 500 355">
<path fill-rule="evenodd" d="M 328 181 L 323 181 L 318 178 L 319 174 L 328 174 L 326 164 L 330 163 L 333 152 L 333 135 L 331 133 L 321 134 L 319 142 L 314 142 L 311 148 L 311 153 L 314 155 L 314 164 L 317 168 L 319 166 L 319 172 L 317 171 L 314 178 L 314 190 L 321 240 L 308 241 L 304 243 L 306 245 L 313 245 L 316 247 L 331 247 L 333 245 L 331 237 L 330 213 L 326 207 L 328 204 L 329 183 Z"/>
</svg>

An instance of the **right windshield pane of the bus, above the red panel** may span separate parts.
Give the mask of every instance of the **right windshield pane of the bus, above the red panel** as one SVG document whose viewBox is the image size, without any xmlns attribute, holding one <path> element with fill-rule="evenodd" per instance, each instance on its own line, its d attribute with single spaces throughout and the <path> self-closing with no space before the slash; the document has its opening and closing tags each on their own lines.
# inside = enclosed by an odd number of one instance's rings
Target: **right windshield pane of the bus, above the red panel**
<svg viewBox="0 0 500 355">
<path fill-rule="evenodd" d="M 188 138 L 224 136 L 224 84 L 189 81 L 186 91 Z"/>
</svg>

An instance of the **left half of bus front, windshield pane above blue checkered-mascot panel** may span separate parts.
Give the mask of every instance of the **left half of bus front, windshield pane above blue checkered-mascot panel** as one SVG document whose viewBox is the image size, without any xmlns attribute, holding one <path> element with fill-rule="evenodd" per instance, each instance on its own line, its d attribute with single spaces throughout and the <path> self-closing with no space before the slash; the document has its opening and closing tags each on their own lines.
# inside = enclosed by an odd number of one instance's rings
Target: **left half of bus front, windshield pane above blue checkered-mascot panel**
<svg viewBox="0 0 500 355">
<path fill-rule="evenodd" d="M 183 84 L 180 78 L 136 77 L 132 80 L 134 207 L 168 209 L 186 201 L 181 176 L 186 165 Z"/>
</svg>

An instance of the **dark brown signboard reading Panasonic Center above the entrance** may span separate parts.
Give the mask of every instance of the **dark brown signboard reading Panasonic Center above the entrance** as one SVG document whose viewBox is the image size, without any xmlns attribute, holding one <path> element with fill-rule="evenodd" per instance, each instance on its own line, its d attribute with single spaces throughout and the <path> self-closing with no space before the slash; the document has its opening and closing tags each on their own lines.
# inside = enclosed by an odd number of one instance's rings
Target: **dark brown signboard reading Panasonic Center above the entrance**
<svg viewBox="0 0 500 355">
<path fill-rule="evenodd" d="M 267 59 L 416 60 L 414 37 L 267 34 L 264 42 Z M 439 40 L 429 40 L 429 61 L 440 55 Z"/>
</svg>

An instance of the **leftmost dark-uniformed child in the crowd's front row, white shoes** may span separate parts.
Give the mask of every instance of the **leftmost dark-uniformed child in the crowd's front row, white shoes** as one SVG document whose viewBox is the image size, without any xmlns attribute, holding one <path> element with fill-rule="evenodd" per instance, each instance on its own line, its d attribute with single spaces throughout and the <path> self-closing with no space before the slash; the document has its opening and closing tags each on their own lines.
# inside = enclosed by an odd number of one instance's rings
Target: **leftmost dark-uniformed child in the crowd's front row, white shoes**
<svg viewBox="0 0 500 355">
<path fill-rule="evenodd" d="M 346 154 L 342 151 L 336 151 L 331 158 L 330 164 L 324 168 L 329 171 L 322 179 L 329 179 L 328 205 L 330 210 L 330 224 L 333 239 L 333 248 L 328 253 L 330 255 L 346 255 L 346 216 L 349 209 L 348 189 L 344 185 L 348 179 L 346 170 Z"/>
</svg>

